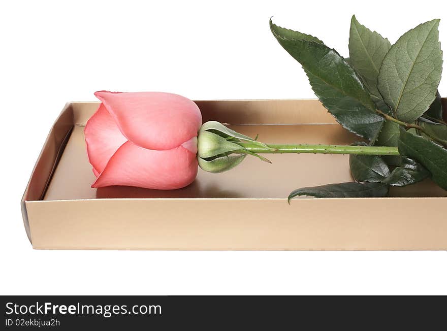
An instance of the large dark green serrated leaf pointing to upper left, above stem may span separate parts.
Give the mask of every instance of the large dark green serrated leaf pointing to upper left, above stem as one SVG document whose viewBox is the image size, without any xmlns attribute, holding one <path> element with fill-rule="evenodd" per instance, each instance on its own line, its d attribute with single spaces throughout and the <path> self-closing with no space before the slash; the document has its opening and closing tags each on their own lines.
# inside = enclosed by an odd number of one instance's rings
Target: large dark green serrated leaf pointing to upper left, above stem
<svg viewBox="0 0 447 331">
<path fill-rule="evenodd" d="M 383 119 L 375 114 L 369 92 L 344 58 L 324 44 L 309 41 L 311 36 L 296 32 L 291 37 L 290 30 L 271 21 L 270 28 L 279 44 L 301 63 L 313 91 L 336 120 L 361 137 L 375 138 Z"/>
</svg>

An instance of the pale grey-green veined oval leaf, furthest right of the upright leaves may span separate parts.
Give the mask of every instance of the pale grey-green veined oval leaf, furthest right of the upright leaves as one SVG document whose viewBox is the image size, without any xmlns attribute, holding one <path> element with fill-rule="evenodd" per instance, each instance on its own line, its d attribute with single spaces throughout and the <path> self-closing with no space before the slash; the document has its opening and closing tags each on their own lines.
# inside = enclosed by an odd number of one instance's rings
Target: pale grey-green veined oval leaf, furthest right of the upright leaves
<svg viewBox="0 0 447 331">
<path fill-rule="evenodd" d="M 418 119 L 435 99 L 442 71 L 438 25 L 435 19 L 406 32 L 380 67 L 377 88 L 404 122 Z"/>
</svg>

